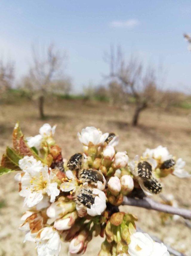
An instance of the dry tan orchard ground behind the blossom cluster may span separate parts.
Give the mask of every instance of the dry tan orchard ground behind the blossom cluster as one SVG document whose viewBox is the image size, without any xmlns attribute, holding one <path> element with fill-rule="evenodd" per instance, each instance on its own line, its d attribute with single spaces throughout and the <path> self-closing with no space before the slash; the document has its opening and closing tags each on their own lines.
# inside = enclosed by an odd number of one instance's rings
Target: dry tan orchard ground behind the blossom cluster
<svg viewBox="0 0 191 256">
<path fill-rule="evenodd" d="M 118 150 L 127 150 L 130 158 L 141 154 L 146 147 L 158 145 L 167 146 L 170 152 L 182 157 L 187 162 L 187 170 L 191 165 L 191 118 L 189 111 L 174 109 L 173 112 L 163 112 L 161 109 L 148 109 L 141 114 L 140 125 L 130 126 L 132 108 L 125 110 L 108 106 L 106 103 L 82 102 L 78 100 L 49 100 L 46 104 L 49 116 L 46 120 L 38 119 L 36 103 L 19 102 L 10 105 L 0 105 L 0 156 L 6 145 L 11 145 L 11 132 L 17 120 L 20 121 L 24 134 L 36 135 L 44 122 L 57 124 L 55 138 L 62 147 L 65 158 L 81 150 L 76 136 L 83 127 L 99 127 L 103 132 L 115 132 L 120 135 Z M 179 206 L 191 208 L 190 179 L 180 180 L 167 177 L 164 183 L 164 193 L 172 193 Z M 20 217 L 23 213 L 23 199 L 18 195 L 18 186 L 14 174 L 8 174 L 0 179 L 0 255 L 1 256 L 31 256 L 36 255 L 33 243 L 23 244 L 24 234 L 18 230 Z M 154 234 L 191 255 L 191 229 L 183 219 L 169 222 L 162 226 L 158 213 L 135 207 L 125 207 L 126 211 L 135 213 L 139 220 L 138 226 L 150 234 Z M 100 248 L 100 238 L 88 245 L 85 255 L 97 255 Z M 67 245 L 68 246 L 68 245 Z M 62 253 L 67 255 L 67 247 L 62 245 Z"/>
</svg>

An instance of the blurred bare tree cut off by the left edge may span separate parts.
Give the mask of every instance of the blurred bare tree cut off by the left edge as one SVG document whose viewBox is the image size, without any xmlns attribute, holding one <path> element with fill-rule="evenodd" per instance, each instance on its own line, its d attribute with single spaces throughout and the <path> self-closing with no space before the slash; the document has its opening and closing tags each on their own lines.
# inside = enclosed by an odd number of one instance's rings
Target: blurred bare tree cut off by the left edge
<svg viewBox="0 0 191 256">
<path fill-rule="evenodd" d="M 13 61 L 6 63 L 0 60 L 0 91 L 11 88 L 14 80 L 15 64 Z"/>
</svg>

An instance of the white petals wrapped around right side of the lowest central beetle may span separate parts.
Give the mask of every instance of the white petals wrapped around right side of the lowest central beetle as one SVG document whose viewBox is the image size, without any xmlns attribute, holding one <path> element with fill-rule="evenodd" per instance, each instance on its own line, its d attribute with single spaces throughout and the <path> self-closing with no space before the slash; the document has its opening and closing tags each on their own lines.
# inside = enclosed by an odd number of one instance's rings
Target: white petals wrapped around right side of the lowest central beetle
<svg viewBox="0 0 191 256">
<path fill-rule="evenodd" d="M 93 194 L 96 195 L 96 197 L 90 208 L 87 208 L 87 214 L 91 216 L 101 215 L 106 209 L 106 195 L 99 189 L 93 189 Z"/>
</svg>

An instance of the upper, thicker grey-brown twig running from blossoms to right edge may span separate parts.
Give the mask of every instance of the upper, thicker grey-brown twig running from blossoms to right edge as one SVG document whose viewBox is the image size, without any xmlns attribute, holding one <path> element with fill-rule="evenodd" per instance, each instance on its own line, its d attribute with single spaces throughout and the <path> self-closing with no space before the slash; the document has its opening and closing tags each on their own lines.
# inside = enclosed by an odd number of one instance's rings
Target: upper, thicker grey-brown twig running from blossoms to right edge
<svg viewBox="0 0 191 256">
<path fill-rule="evenodd" d="M 161 204 L 149 197 L 135 199 L 124 196 L 123 205 L 142 207 L 150 210 L 156 210 L 164 213 L 176 214 L 185 219 L 191 219 L 191 211 L 183 208 L 176 208 L 170 205 Z"/>
</svg>

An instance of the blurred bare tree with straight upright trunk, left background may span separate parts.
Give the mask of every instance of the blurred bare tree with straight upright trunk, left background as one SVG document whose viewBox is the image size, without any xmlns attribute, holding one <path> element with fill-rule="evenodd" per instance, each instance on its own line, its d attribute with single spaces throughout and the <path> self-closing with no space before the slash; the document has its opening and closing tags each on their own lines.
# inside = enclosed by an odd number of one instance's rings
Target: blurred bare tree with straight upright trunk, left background
<svg viewBox="0 0 191 256">
<path fill-rule="evenodd" d="M 63 85 L 61 81 L 66 81 L 64 70 L 66 65 L 66 53 L 61 53 L 55 49 L 51 43 L 43 51 L 39 48 L 32 48 L 33 64 L 29 74 L 25 77 L 25 84 L 38 92 L 39 115 L 44 118 L 44 99 L 47 93 L 54 91 L 55 86 Z"/>
</svg>

